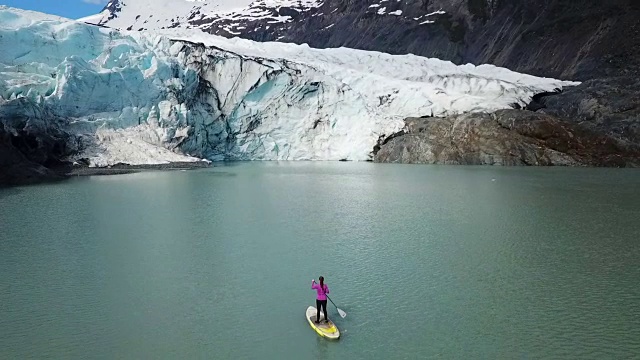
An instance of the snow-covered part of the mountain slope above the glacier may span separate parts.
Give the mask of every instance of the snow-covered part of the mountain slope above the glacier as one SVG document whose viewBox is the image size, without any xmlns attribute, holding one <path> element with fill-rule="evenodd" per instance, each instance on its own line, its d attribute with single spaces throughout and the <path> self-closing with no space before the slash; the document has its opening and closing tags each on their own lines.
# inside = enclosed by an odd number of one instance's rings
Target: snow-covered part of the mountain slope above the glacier
<svg viewBox="0 0 640 360">
<path fill-rule="evenodd" d="M 423 1 L 424 3 L 424 1 Z M 309 43 L 312 47 L 352 47 L 348 39 L 384 37 L 389 24 L 397 30 L 426 30 L 446 12 L 407 0 L 111 0 L 97 15 L 79 19 L 120 30 L 198 29 L 224 37 L 255 41 Z M 350 14 L 357 12 L 358 19 Z M 353 20 L 374 20 L 372 29 L 349 29 Z M 381 20 L 383 19 L 383 20 Z M 346 21 L 345 21 L 346 20 Z M 347 30 L 348 31 L 345 31 Z M 340 38 L 321 44 L 323 39 Z M 389 41 L 397 41 L 391 36 Z M 375 46 L 356 48 L 381 50 Z"/>
</svg>

